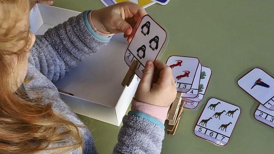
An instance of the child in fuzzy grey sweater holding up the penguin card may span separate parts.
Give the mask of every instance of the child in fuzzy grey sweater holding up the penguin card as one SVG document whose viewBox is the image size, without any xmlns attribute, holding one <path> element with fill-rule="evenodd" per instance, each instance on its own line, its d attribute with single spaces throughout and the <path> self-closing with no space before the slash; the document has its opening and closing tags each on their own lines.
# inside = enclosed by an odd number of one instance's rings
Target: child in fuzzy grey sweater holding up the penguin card
<svg viewBox="0 0 274 154">
<path fill-rule="evenodd" d="M 52 82 L 114 33 L 123 32 L 130 41 L 132 27 L 146 12 L 119 3 L 85 11 L 35 36 L 28 21 L 33 5 L 0 0 L 0 153 L 97 153 L 91 133 Z M 148 61 L 113 153 L 160 153 L 163 123 L 175 96 L 171 68 Z"/>
</svg>

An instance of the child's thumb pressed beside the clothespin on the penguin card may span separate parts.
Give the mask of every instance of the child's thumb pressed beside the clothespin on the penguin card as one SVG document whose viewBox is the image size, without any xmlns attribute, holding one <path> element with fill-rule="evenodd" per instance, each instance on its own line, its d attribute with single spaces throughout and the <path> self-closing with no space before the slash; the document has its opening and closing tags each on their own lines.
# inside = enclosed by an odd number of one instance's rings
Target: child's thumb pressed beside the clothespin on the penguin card
<svg viewBox="0 0 274 154">
<path fill-rule="evenodd" d="M 142 79 L 139 83 L 139 86 L 143 90 L 149 91 L 151 88 L 153 76 L 154 76 L 154 65 L 153 65 L 152 61 L 147 61 L 145 68 L 144 68 L 144 73 L 143 73 Z"/>
</svg>

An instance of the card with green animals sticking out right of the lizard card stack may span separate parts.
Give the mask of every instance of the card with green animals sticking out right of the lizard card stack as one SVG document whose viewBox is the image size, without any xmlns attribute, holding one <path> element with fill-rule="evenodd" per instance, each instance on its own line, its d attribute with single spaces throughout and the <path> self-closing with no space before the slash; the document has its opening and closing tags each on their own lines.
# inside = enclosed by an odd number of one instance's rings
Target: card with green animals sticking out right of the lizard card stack
<svg viewBox="0 0 274 154">
<path fill-rule="evenodd" d="M 199 85 L 199 93 L 195 98 L 187 98 L 189 101 L 194 101 L 194 102 L 200 102 L 204 96 L 205 96 L 205 91 L 208 87 L 210 78 L 211 78 L 211 69 L 205 66 L 202 66 L 202 72 L 201 72 L 201 78 L 200 78 L 200 85 Z M 182 98 L 184 100 L 185 98 Z"/>
</svg>

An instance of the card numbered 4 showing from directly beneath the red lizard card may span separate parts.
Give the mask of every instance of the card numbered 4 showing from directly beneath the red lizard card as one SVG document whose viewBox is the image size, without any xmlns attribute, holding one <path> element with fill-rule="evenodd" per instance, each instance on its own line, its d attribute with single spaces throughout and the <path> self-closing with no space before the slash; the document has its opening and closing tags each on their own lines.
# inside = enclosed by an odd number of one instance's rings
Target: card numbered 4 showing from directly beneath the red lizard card
<svg viewBox="0 0 274 154">
<path fill-rule="evenodd" d="M 201 71 L 202 71 L 202 65 L 199 63 L 198 69 L 196 70 L 196 74 L 193 80 L 193 84 L 191 85 L 191 88 L 188 92 L 182 94 L 183 98 L 195 98 L 198 95 Z"/>
</svg>

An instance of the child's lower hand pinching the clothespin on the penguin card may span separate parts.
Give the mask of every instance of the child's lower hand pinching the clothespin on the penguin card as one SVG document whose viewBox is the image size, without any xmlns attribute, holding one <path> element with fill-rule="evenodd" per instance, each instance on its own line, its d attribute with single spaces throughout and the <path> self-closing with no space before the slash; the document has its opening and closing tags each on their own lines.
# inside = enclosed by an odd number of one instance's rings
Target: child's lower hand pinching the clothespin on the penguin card
<svg viewBox="0 0 274 154">
<path fill-rule="evenodd" d="M 177 89 L 171 68 L 160 61 L 154 63 L 148 61 L 137 88 L 135 100 L 168 107 L 176 98 L 176 94 Z"/>
</svg>

